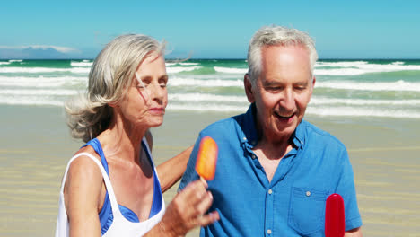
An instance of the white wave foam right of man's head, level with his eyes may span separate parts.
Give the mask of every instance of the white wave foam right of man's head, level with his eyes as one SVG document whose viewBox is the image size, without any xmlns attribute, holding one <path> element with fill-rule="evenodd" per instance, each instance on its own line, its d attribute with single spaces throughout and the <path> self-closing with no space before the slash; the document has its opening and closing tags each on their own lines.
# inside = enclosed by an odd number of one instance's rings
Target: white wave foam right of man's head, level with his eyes
<svg viewBox="0 0 420 237">
<path fill-rule="evenodd" d="M 359 83 L 351 81 L 317 82 L 315 88 L 331 88 L 356 91 L 392 91 L 420 92 L 420 83 L 408 83 L 402 80 L 389 83 Z"/>
</svg>

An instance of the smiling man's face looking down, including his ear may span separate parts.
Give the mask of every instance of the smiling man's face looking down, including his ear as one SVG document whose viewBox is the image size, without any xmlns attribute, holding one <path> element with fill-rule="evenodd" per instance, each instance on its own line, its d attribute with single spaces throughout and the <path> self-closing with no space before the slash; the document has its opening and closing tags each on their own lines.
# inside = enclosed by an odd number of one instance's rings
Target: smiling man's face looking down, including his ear
<svg viewBox="0 0 420 237">
<path fill-rule="evenodd" d="M 309 52 L 302 46 L 264 46 L 262 71 L 245 89 L 257 107 L 258 127 L 264 138 L 284 142 L 302 121 L 311 100 L 315 77 L 311 77 Z"/>
</svg>

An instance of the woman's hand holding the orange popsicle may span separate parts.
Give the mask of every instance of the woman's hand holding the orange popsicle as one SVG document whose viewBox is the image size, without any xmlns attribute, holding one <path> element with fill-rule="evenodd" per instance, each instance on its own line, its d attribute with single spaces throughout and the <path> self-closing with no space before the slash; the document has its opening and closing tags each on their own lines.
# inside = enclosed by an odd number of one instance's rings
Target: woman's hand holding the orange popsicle
<svg viewBox="0 0 420 237">
<path fill-rule="evenodd" d="M 173 198 L 161 222 L 156 226 L 161 236 L 184 236 L 198 226 L 206 226 L 219 220 L 220 216 L 216 211 L 205 215 L 213 202 L 213 196 L 206 188 L 205 180 L 196 180 Z"/>
</svg>

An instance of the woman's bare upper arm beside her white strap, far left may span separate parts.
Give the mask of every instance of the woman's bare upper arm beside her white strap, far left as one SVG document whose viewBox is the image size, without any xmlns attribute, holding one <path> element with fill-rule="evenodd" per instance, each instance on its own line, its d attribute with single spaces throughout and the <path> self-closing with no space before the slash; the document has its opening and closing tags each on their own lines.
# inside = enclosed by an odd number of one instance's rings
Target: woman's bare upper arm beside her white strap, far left
<svg viewBox="0 0 420 237">
<path fill-rule="evenodd" d="M 102 174 L 90 158 L 71 163 L 64 189 L 70 236 L 101 236 L 98 208 Z"/>
</svg>

